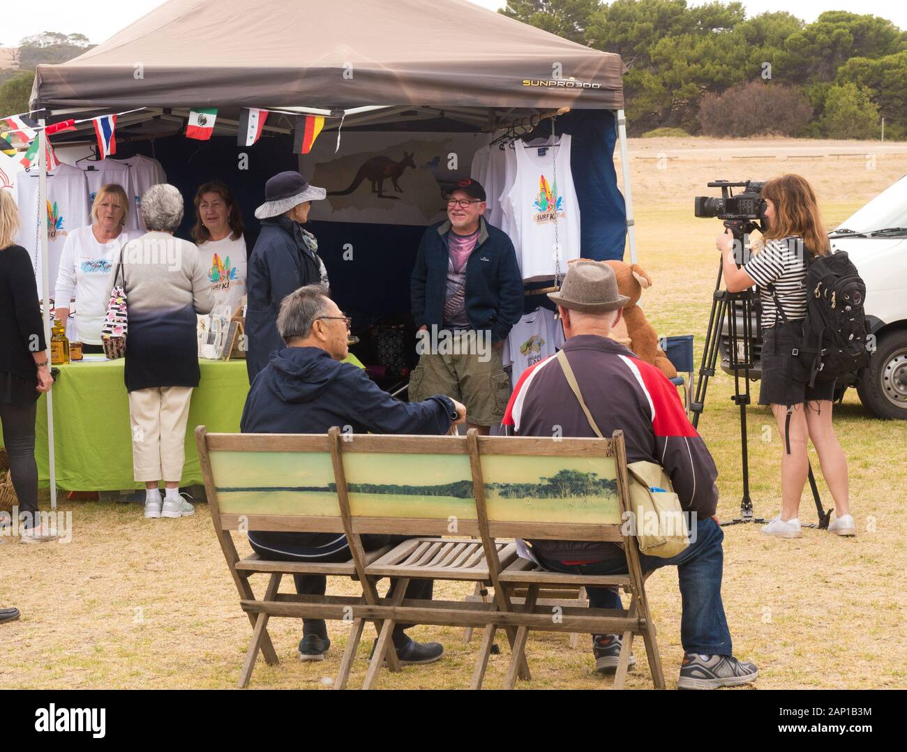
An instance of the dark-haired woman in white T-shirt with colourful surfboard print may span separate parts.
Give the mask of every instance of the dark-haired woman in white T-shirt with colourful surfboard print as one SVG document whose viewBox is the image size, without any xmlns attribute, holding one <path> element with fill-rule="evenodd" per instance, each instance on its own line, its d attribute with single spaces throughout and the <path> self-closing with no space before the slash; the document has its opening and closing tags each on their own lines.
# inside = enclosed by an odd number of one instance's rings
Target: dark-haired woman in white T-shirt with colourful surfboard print
<svg viewBox="0 0 907 752">
<path fill-rule="evenodd" d="M 226 183 L 206 182 L 195 194 L 192 239 L 205 260 L 212 313 L 232 316 L 246 294 L 246 239 L 242 213 Z"/>
</svg>

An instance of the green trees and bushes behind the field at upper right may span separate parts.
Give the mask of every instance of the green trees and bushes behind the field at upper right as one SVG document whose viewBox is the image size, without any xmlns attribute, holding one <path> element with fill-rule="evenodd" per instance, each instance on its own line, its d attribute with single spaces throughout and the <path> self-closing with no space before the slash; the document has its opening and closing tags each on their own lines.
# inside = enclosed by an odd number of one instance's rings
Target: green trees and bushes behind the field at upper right
<svg viewBox="0 0 907 752">
<path fill-rule="evenodd" d="M 825 11 L 747 17 L 739 2 L 509 0 L 501 13 L 624 66 L 629 134 L 907 138 L 907 32 Z"/>
</svg>

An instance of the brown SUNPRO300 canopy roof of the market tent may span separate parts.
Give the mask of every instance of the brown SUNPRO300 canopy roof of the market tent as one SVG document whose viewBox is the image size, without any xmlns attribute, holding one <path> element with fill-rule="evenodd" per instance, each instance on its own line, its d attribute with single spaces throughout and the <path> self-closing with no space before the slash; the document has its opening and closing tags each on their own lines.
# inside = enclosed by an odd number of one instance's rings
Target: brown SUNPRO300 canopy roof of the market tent
<svg viewBox="0 0 907 752">
<path fill-rule="evenodd" d="M 33 107 L 623 107 L 618 54 L 467 0 L 170 0 L 60 65 Z"/>
</svg>

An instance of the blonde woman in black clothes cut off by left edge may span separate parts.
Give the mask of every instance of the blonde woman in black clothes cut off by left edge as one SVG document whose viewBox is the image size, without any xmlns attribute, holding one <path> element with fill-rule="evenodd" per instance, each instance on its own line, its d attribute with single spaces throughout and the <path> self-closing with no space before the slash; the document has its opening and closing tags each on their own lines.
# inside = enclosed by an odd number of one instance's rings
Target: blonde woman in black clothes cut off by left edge
<svg viewBox="0 0 907 752">
<path fill-rule="evenodd" d="M 38 466 L 34 462 L 34 417 L 41 392 L 54 384 L 47 360 L 44 321 L 38 305 L 32 259 L 13 239 L 19 210 L 0 189 L 0 422 L 15 495 L 20 540 L 53 541 L 57 536 L 38 515 Z"/>
</svg>

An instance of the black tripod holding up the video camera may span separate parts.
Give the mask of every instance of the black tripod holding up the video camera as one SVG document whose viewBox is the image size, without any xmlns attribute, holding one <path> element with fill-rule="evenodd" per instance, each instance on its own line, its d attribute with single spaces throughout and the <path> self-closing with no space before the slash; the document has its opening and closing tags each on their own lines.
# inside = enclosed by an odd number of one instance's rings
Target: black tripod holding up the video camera
<svg viewBox="0 0 907 752">
<path fill-rule="evenodd" d="M 751 221 L 727 220 L 724 224 L 734 234 L 736 243 L 741 244 L 740 248 L 743 248 L 744 237 L 748 236 L 752 230 L 758 229 L 758 225 Z M 719 259 L 715 292 L 712 295 L 712 309 L 708 316 L 706 346 L 702 353 L 702 364 L 699 366 L 696 394 L 689 406 L 693 413 L 693 427 L 697 428 L 699 417 L 702 415 L 706 403 L 708 379 L 715 376 L 716 373 L 721 337 L 727 321 L 727 361 L 729 370 L 734 374 L 734 395 L 731 400 L 740 409 L 740 464 L 743 476 L 740 516 L 735 517 L 731 522 L 722 522 L 722 526 L 727 526 L 746 522 L 766 522 L 766 520 L 753 515 L 753 500 L 749 495 L 749 453 L 746 439 L 746 405 L 750 404 L 749 372 L 754 367 L 753 312 L 756 311 L 758 316 L 761 308 L 753 289 L 746 289 L 742 292 L 728 292 L 726 289 L 722 289 L 722 276 L 722 261 Z M 827 528 L 832 511 L 823 512 L 812 465 L 809 466 L 808 477 L 815 508 L 819 514 L 818 526 L 823 529 Z"/>
</svg>

